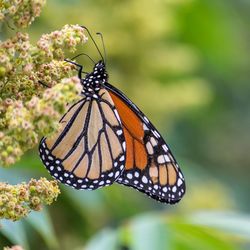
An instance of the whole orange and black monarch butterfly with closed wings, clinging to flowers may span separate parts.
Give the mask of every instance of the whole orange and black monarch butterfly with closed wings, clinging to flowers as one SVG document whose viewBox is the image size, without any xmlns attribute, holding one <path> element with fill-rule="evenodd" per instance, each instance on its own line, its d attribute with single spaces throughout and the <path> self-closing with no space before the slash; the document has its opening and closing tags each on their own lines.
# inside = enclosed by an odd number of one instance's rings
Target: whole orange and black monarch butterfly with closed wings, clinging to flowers
<svg viewBox="0 0 250 250">
<path fill-rule="evenodd" d="M 84 78 L 82 66 L 71 62 L 79 67 L 82 98 L 61 118 L 60 131 L 42 138 L 41 160 L 54 178 L 75 189 L 117 182 L 163 203 L 180 201 L 185 181 L 173 154 L 140 109 L 108 83 L 105 62 L 102 57 Z"/>
</svg>

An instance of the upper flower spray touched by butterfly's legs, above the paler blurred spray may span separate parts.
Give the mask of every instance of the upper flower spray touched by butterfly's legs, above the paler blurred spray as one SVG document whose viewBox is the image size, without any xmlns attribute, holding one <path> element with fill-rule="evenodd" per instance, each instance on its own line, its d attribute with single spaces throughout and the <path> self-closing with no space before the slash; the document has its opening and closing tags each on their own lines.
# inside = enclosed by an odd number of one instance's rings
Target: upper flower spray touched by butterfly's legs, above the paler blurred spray
<svg viewBox="0 0 250 250">
<path fill-rule="evenodd" d="M 32 45 L 29 35 L 21 32 L 0 42 L 0 97 L 27 100 L 42 92 L 39 81 L 53 86 L 72 76 L 74 65 L 63 61 L 63 51 L 74 51 L 86 41 L 84 28 L 65 25 L 60 31 L 44 34 L 37 45 Z"/>
</svg>

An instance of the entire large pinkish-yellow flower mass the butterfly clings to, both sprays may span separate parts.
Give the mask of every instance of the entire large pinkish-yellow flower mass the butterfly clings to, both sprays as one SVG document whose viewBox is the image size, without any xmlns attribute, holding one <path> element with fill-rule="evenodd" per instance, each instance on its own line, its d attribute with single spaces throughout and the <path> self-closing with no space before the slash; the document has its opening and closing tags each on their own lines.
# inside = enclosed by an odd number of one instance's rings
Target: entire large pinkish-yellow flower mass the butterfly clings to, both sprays
<svg viewBox="0 0 250 250">
<path fill-rule="evenodd" d="M 20 32 L 0 43 L 0 165 L 15 163 L 55 131 L 66 104 L 79 98 L 75 66 L 63 61 L 63 51 L 86 41 L 82 27 L 66 25 L 36 46 Z"/>
</svg>

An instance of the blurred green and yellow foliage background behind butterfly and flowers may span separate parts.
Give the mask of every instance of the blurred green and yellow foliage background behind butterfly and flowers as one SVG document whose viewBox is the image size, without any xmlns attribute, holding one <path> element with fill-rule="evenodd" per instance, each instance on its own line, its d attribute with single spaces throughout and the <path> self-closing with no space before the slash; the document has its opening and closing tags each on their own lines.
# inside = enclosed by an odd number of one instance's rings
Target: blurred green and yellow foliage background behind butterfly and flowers
<svg viewBox="0 0 250 250">
<path fill-rule="evenodd" d="M 159 128 L 187 193 L 168 206 L 119 185 L 61 186 L 42 213 L 1 221 L 0 247 L 250 249 L 250 1 L 54 0 L 28 32 L 36 42 L 76 23 L 103 33 L 110 83 Z M 99 59 L 91 42 L 80 52 Z M 86 58 L 79 62 L 92 67 Z M 12 184 L 40 176 L 50 178 L 37 151 L 0 169 L 0 181 Z"/>
</svg>

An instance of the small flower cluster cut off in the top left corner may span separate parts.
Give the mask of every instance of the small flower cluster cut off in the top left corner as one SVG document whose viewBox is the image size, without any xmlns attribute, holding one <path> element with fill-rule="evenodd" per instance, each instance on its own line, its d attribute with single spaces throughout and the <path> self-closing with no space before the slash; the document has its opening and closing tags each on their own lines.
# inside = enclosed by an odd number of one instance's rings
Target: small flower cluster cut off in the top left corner
<svg viewBox="0 0 250 250">
<path fill-rule="evenodd" d="M 18 28 L 28 27 L 41 13 L 46 0 L 1 0 L 0 22 L 12 21 Z"/>
</svg>

